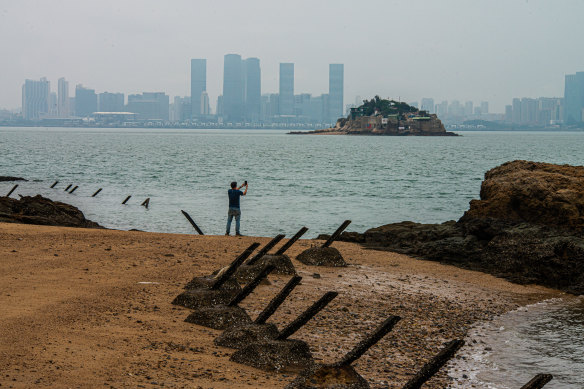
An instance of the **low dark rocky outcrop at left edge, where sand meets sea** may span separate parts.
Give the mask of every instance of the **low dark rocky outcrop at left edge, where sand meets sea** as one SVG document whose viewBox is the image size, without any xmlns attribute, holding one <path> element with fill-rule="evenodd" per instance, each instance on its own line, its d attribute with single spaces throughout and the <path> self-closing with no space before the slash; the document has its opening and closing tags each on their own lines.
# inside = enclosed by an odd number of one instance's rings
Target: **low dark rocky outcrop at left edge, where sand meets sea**
<svg viewBox="0 0 584 389">
<path fill-rule="evenodd" d="M 25 196 L 19 200 L 0 197 L 0 222 L 103 228 L 99 224 L 87 220 L 83 212 L 74 206 L 52 201 L 40 195 Z"/>
</svg>

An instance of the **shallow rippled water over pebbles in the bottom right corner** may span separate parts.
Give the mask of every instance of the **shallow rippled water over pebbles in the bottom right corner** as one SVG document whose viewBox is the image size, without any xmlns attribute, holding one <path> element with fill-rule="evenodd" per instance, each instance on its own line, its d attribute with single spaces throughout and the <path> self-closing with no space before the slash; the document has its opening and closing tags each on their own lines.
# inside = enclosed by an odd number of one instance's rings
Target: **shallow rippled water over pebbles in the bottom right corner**
<svg viewBox="0 0 584 389">
<path fill-rule="evenodd" d="M 552 299 L 477 325 L 450 367 L 454 388 L 520 388 L 538 373 L 545 388 L 584 388 L 584 298 Z M 468 379 L 463 378 L 463 374 Z"/>
</svg>

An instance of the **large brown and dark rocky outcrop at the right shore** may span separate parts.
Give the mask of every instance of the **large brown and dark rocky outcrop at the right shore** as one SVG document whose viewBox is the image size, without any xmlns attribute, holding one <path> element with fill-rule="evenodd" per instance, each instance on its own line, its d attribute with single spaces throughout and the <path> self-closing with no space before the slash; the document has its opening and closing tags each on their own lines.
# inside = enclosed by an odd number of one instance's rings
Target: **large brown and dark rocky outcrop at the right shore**
<svg viewBox="0 0 584 389">
<path fill-rule="evenodd" d="M 584 167 L 513 161 L 457 222 L 402 222 L 340 240 L 584 294 Z"/>
</svg>

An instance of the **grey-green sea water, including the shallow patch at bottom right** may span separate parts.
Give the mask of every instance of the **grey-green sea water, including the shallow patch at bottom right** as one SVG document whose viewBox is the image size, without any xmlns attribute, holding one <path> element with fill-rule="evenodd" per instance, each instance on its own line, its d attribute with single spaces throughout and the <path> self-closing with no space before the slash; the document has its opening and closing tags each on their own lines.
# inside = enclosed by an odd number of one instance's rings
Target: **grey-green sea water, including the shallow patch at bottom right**
<svg viewBox="0 0 584 389">
<path fill-rule="evenodd" d="M 105 227 L 192 233 L 183 209 L 206 234 L 225 233 L 229 183 L 247 180 L 243 234 L 291 236 L 307 226 L 307 236 L 314 237 L 331 233 L 345 219 L 352 220 L 349 231 L 360 232 L 403 220 L 458 219 L 468 202 L 479 197 L 484 173 L 506 161 L 584 165 L 584 132 L 461 134 L 345 137 L 272 130 L 4 127 L 0 175 L 30 180 L 19 183 L 13 197 L 42 194 L 64 201 Z M 79 186 L 75 193 L 64 191 L 69 184 Z M 13 185 L 0 183 L 0 194 Z M 103 191 L 91 197 L 98 188 Z M 121 205 L 129 195 L 127 205 Z M 140 206 L 147 197 L 149 209 Z M 533 341 L 540 348 L 525 350 L 509 340 L 505 353 L 481 354 L 487 362 L 474 362 L 484 371 L 473 372 L 474 384 L 517 387 L 508 378 L 515 368 L 530 374 L 521 364 L 527 360 L 535 373 L 557 374 L 546 388 L 584 387 L 583 311 L 582 302 L 555 301 L 513 313 L 519 319 L 513 316 L 503 325 L 505 336 L 518 337 L 520 344 Z M 521 325 L 550 312 L 557 313 L 553 321 Z M 578 332 L 571 332 L 574 328 Z M 480 336 L 493 349 L 502 349 L 497 343 L 501 332 L 485 330 Z M 562 343 L 564 335 L 573 336 L 570 347 Z"/>
</svg>

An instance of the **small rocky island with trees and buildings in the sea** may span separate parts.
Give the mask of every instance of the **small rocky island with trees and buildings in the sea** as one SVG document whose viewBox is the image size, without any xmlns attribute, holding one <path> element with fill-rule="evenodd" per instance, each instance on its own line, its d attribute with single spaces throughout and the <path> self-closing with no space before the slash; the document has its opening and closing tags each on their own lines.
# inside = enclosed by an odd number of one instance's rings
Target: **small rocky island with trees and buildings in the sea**
<svg viewBox="0 0 584 389">
<path fill-rule="evenodd" d="M 351 108 L 347 118 L 340 118 L 333 128 L 296 135 L 393 135 L 393 136 L 457 136 L 448 132 L 435 114 L 419 110 L 403 102 L 375 96 Z"/>
</svg>

